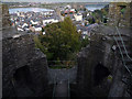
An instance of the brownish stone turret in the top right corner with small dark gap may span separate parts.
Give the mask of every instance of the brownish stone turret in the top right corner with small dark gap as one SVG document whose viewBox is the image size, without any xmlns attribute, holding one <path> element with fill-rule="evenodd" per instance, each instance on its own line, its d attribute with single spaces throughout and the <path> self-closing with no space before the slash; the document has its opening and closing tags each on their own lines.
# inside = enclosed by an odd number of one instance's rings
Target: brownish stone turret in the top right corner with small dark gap
<svg viewBox="0 0 132 99">
<path fill-rule="evenodd" d="M 132 26 L 132 2 L 111 2 L 109 6 L 109 24 L 121 28 Z M 121 10 L 124 8 L 124 10 Z"/>
</svg>

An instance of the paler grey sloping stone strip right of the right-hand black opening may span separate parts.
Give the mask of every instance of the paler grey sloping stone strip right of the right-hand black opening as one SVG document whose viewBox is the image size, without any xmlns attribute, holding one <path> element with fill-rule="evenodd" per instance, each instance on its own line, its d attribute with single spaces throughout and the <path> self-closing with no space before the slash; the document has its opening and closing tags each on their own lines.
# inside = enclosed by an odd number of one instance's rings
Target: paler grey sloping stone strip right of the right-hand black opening
<svg viewBox="0 0 132 99">
<path fill-rule="evenodd" d="M 117 57 L 113 66 L 114 66 L 113 79 L 108 97 L 127 97 L 125 96 L 127 85 L 122 81 L 124 73 L 122 62 Z"/>
</svg>

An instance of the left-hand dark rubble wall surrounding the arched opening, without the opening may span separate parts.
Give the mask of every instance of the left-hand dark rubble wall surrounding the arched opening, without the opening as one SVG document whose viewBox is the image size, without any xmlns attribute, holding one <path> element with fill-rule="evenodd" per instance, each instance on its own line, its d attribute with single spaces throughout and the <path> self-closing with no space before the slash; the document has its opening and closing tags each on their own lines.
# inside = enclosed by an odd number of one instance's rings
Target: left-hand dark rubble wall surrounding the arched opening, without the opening
<svg viewBox="0 0 132 99">
<path fill-rule="evenodd" d="M 38 96 L 47 87 L 46 56 L 35 48 L 33 35 L 4 37 L 2 40 L 2 63 L 3 97 L 16 96 L 11 80 L 15 70 L 23 66 L 30 67 L 35 89 L 34 96 Z"/>
</svg>

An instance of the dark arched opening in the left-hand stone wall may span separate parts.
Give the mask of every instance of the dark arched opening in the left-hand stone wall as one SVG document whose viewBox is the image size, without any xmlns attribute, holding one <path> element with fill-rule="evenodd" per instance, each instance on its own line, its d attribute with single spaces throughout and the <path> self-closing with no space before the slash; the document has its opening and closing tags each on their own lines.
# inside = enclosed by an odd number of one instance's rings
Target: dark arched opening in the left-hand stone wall
<svg viewBox="0 0 132 99">
<path fill-rule="evenodd" d="M 20 67 L 13 74 L 14 90 L 18 97 L 29 97 L 33 95 L 33 81 L 29 66 Z"/>
</svg>

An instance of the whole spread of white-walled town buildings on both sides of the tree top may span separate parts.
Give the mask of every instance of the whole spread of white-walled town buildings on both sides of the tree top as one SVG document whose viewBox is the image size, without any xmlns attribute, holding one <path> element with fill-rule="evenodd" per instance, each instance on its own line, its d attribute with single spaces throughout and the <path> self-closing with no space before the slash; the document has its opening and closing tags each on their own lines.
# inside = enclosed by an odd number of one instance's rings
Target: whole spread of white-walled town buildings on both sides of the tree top
<svg viewBox="0 0 132 99">
<path fill-rule="evenodd" d="M 66 16 L 73 20 L 73 23 L 77 28 L 77 32 L 81 33 L 82 38 L 90 36 L 91 24 L 89 24 L 87 18 L 90 16 L 91 12 L 87 10 L 78 10 L 72 6 L 57 8 L 54 11 L 41 11 L 41 12 L 15 12 L 10 14 L 12 26 L 16 28 L 19 32 L 32 32 L 40 33 L 42 28 L 47 24 L 57 23 L 64 21 Z M 89 28 L 88 28 L 89 26 Z M 97 25 L 94 25 L 97 26 Z M 45 34 L 45 32 L 43 33 Z"/>
</svg>

